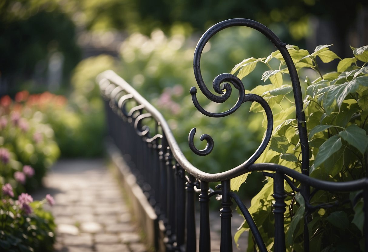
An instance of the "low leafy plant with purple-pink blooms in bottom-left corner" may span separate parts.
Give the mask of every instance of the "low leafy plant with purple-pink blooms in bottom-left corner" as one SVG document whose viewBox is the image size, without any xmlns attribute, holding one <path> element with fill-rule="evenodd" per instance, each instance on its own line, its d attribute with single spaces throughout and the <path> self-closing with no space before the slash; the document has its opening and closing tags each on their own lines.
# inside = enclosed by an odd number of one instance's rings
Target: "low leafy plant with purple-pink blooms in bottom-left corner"
<svg viewBox="0 0 368 252">
<path fill-rule="evenodd" d="M 10 184 L 2 185 L 0 201 L 0 250 L 14 252 L 53 251 L 55 243 L 54 218 L 43 210 L 43 204 L 54 204 L 50 195 L 42 201 L 33 201 L 22 193 L 13 200 Z"/>
</svg>

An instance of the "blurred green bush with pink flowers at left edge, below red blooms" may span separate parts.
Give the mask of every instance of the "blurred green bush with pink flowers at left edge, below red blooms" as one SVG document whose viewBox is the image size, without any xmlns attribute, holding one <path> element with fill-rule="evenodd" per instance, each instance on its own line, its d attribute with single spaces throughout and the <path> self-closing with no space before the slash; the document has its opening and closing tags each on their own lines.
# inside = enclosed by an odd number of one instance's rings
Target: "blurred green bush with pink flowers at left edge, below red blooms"
<svg viewBox="0 0 368 252">
<path fill-rule="evenodd" d="M 8 96 L 0 99 L 0 147 L 9 152 L 9 160 L 0 162 L 0 182 L 11 183 L 18 193 L 41 186 L 47 170 L 60 156 L 53 129 L 45 123 L 45 115 L 40 109 L 35 109 L 35 104 L 43 107 L 45 104 L 57 103 L 57 99 L 51 103 L 48 95 L 51 94 L 33 95 L 25 102 L 28 92 L 23 91 L 18 93 L 17 102 L 13 102 Z M 32 166 L 34 176 L 26 177 L 24 183 L 17 183 L 14 174 L 24 172 L 24 165 Z"/>
</svg>

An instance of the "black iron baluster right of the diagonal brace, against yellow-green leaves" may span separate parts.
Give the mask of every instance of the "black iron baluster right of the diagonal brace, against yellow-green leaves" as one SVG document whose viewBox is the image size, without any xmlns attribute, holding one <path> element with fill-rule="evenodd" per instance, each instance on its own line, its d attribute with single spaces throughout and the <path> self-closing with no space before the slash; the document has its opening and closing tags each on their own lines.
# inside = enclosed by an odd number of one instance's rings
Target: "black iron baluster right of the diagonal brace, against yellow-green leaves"
<svg viewBox="0 0 368 252">
<path fill-rule="evenodd" d="M 284 189 L 284 174 L 276 172 L 273 174 L 273 214 L 275 216 L 275 252 L 284 252 L 285 246 L 285 231 L 284 231 L 284 212 L 286 211 L 286 198 Z"/>
</svg>

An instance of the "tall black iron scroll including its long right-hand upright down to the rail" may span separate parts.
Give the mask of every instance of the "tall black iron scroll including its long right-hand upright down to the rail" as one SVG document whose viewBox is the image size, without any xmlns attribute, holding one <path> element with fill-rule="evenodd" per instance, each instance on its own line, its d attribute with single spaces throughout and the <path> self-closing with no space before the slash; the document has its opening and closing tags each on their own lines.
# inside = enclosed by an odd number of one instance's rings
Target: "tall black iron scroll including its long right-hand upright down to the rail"
<svg viewBox="0 0 368 252">
<path fill-rule="evenodd" d="M 230 73 L 222 73 L 213 80 L 212 86 L 213 90 L 220 94 L 220 96 L 213 94 L 205 85 L 205 82 L 202 78 L 201 74 L 201 55 L 203 52 L 203 49 L 206 45 L 206 43 L 210 40 L 212 36 L 214 36 L 216 33 L 220 32 L 223 29 L 232 27 L 232 26 L 247 26 L 250 28 L 253 28 L 255 30 L 258 30 L 263 35 L 265 35 L 275 46 L 277 49 L 279 49 L 280 53 L 282 54 L 287 68 L 289 69 L 290 77 L 291 77 L 291 83 L 293 86 L 293 93 L 294 93 L 294 100 L 296 103 L 296 117 L 298 120 L 298 130 L 300 135 L 300 142 L 301 142 L 301 149 L 302 149 L 302 173 L 308 175 L 309 174 L 309 145 L 308 145 L 308 137 L 307 137 L 307 130 L 305 127 L 305 115 L 302 111 L 303 104 L 302 104 L 302 94 L 301 94 L 301 87 L 299 83 L 298 74 L 295 68 L 295 65 L 291 59 L 291 56 L 289 52 L 286 49 L 286 43 L 283 43 L 279 37 L 275 35 L 269 28 L 266 26 L 253 21 L 251 19 L 244 19 L 244 18 L 235 18 L 235 19 L 228 19 L 222 22 L 219 22 L 216 25 L 213 25 L 211 28 L 209 28 L 199 39 L 197 47 L 195 48 L 194 52 L 194 59 L 193 59 L 193 69 L 194 69 L 194 76 L 197 81 L 198 87 L 201 90 L 201 92 L 210 100 L 217 103 L 222 103 L 228 100 L 232 93 L 231 85 L 233 85 L 239 92 L 238 100 L 236 104 L 230 108 L 229 110 L 225 112 L 220 113 L 212 113 L 209 111 L 206 111 L 201 105 L 199 104 L 197 100 L 197 88 L 192 87 L 190 89 L 190 94 L 192 97 L 192 101 L 194 106 L 197 108 L 199 112 L 202 114 L 209 116 L 209 117 L 224 117 L 227 115 L 230 115 L 234 113 L 240 106 L 246 101 L 252 101 L 252 102 L 258 102 L 263 109 L 265 110 L 266 117 L 267 117 L 267 129 L 265 137 L 263 138 L 261 144 L 259 145 L 258 149 L 254 152 L 254 154 L 249 158 L 247 161 L 245 161 L 242 166 L 247 167 L 248 165 L 251 165 L 256 161 L 256 159 L 262 154 L 262 152 L 265 150 L 266 146 L 268 145 L 270 138 L 272 136 L 272 129 L 273 129 L 273 116 L 272 111 L 268 105 L 268 103 L 261 97 L 256 94 L 245 94 L 244 84 L 241 82 L 239 78 L 236 76 L 230 74 Z M 223 86 L 221 87 L 221 84 Z M 207 134 L 206 134 L 207 135 Z M 208 135 L 207 135 L 208 136 Z M 190 134 L 189 136 L 189 145 L 191 150 L 196 153 L 197 155 L 207 155 L 207 152 L 202 152 L 197 150 L 195 148 L 193 143 L 193 137 L 194 134 Z M 211 143 L 212 144 L 212 143 Z M 213 147 L 213 146 L 212 146 Z M 208 149 L 209 144 L 205 148 Z M 203 151 L 205 151 L 203 150 Z M 200 153 L 200 154 L 199 154 Z M 207 153 L 207 154 L 204 154 Z"/>
</svg>

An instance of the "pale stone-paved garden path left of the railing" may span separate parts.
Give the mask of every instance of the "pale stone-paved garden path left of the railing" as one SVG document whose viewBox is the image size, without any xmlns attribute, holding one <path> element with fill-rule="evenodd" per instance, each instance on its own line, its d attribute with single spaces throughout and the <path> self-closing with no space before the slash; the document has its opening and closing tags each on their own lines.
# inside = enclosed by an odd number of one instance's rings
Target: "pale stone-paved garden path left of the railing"
<svg viewBox="0 0 368 252">
<path fill-rule="evenodd" d="M 103 159 L 58 161 L 32 194 L 55 199 L 56 252 L 148 252 Z"/>
</svg>

